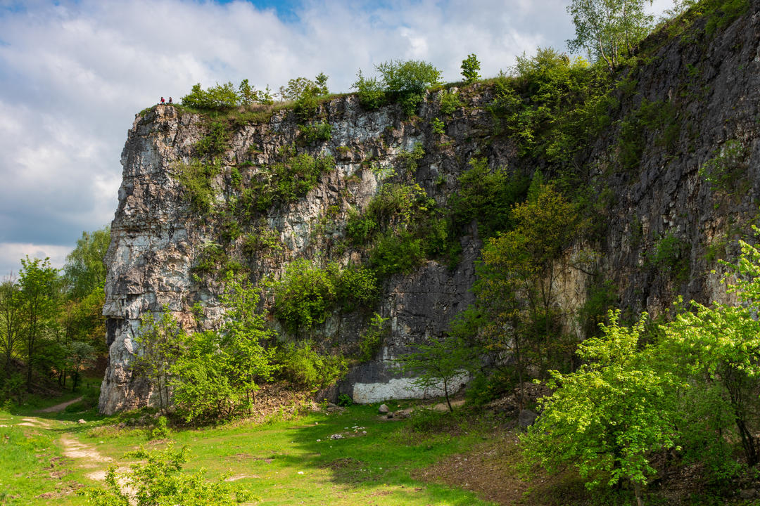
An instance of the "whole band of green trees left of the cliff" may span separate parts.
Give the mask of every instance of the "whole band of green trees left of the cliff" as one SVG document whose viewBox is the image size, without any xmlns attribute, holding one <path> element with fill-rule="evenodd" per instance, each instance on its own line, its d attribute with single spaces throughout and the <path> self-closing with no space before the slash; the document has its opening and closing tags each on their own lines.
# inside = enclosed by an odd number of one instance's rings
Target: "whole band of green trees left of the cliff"
<svg viewBox="0 0 760 506">
<path fill-rule="evenodd" d="M 84 232 L 62 272 L 27 256 L 0 283 L 0 401 L 77 390 L 82 372 L 103 364 L 109 240 L 108 227 Z"/>
</svg>

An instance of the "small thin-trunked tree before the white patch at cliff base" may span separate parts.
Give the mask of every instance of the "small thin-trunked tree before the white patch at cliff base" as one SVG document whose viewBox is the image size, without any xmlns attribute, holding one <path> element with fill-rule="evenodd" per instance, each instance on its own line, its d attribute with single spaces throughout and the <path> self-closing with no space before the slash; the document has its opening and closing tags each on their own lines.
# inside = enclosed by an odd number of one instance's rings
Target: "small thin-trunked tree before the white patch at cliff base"
<svg viewBox="0 0 760 506">
<path fill-rule="evenodd" d="M 416 352 L 399 359 L 401 370 L 416 377 L 420 388 L 443 388 L 448 410 L 453 411 L 449 394 L 458 380 L 470 373 L 477 363 L 477 354 L 460 338 L 430 338 L 429 344 L 417 344 Z"/>
</svg>

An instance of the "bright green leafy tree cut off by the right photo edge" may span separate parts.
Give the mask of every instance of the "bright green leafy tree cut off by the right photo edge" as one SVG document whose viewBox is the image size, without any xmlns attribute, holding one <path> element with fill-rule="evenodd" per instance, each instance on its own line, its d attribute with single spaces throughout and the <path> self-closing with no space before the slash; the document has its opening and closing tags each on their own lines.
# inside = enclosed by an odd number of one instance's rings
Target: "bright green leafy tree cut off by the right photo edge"
<svg viewBox="0 0 760 506">
<path fill-rule="evenodd" d="M 717 467 L 727 464 L 724 448 L 731 439 L 739 440 L 750 466 L 760 463 L 760 250 L 739 244 L 738 264 L 724 262 L 730 267 L 724 283 L 739 304 L 692 301 L 693 313 L 679 313 L 662 327 L 660 345 L 667 363 L 690 385 L 683 410 L 691 429 L 687 444 Z"/>
</svg>

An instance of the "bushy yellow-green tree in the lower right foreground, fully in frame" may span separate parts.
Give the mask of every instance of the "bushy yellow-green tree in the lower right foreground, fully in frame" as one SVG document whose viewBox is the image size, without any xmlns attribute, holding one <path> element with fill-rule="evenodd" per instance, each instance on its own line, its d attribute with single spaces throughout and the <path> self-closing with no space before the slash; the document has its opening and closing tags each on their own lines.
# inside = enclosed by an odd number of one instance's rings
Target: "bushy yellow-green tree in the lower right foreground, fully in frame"
<svg viewBox="0 0 760 506">
<path fill-rule="evenodd" d="M 589 488 L 630 482 L 639 506 L 655 473 L 652 455 L 676 444 L 674 378 L 639 348 L 646 316 L 627 328 L 618 325 L 619 311 L 610 312 L 603 335 L 578 346 L 585 363 L 551 372 L 556 391 L 521 438 L 528 460 L 551 472 L 572 465 Z"/>
</svg>

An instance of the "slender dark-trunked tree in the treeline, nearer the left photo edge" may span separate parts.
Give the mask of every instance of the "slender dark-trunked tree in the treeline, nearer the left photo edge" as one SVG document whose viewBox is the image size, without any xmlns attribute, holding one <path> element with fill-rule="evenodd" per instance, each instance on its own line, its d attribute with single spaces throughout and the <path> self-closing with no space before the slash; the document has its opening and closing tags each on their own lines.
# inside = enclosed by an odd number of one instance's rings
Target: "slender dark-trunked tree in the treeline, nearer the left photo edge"
<svg viewBox="0 0 760 506">
<path fill-rule="evenodd" d="M 50 259 L 21 259 L 19 285 L 23 308 L 25 341 L 27 348 L 27 391 L 32 388 L 32 370 L 40 339 L 46 323 L 55 316 L 58 307 L 58 269 L 50 266 Z"/>
</svg>

